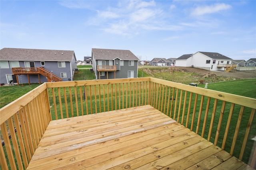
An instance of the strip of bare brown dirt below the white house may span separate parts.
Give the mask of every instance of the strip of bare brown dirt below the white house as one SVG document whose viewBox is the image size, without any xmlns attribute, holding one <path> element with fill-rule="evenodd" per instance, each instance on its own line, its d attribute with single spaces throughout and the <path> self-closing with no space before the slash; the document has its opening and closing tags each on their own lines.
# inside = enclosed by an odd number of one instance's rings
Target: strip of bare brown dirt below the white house
<svg viewBox="0 0 256 170">
<path fill-rule="evenodd" d="M 192 72 L 192 73 L 198 73 L 198 74 L 216 74 L 216 76 L 225 76 L 230 78 L 236 78 L 236 79 L 246 79 L 246 78 L 256 78 L 256 71 L 235 71 L 235 72 L 224 72 L 224 71 L 209 71 L 204 70 L 200 68 L 192 68 L 192 67 L 175 67 L 176 69 L 182 69 L 185 72 Z"/>
</svg>

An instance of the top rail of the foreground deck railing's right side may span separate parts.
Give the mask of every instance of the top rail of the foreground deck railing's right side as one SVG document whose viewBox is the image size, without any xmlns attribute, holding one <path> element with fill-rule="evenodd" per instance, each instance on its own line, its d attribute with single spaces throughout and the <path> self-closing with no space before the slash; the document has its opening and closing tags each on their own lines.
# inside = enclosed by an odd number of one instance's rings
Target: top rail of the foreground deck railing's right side
<svg viewBox="0 0 256 170">
<path fill-rule="evenodd" d="M 256 109 L 256 99 L 254 99 L 254 98 L 238 96 L 236 94 L 229 94 L 229 93 L 219 92 L 219 91 L 210 90 L 210 89 L 206 89 L 206 88 L 198 88 L 195 86 L 189 86 L 186 84 L 170 82 L 167 80 L 161 80 L 161 79 L 157 79 L 157 78 L 150 78 L 150 81 L 155 82 L 155 83 L 164 84 L 166 86 L 172 86 L 174 88 L 178 88 L 181 90 L 186 90 L 188 92 L 208 96 L 208 97 L 215 98 L 218 100 L 223 100 L 226 102 L 231 102 L 234 104 L 239 104 L 241 106 L 246 106 L 246 107 Z"/>
</svg>

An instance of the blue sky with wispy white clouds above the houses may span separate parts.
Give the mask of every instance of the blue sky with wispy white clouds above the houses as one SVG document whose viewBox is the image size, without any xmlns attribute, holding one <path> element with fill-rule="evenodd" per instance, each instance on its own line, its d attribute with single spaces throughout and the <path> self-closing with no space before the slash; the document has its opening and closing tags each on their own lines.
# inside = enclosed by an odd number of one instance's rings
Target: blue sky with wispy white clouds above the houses
<svg viewBox="0 0 256 170">
<path fill-rule="evenodd" d="M 256 58 L 255 0 L 0 1 L 0 48 L 126 49 L 142 60 L 197 51 Z"/>
</svg>

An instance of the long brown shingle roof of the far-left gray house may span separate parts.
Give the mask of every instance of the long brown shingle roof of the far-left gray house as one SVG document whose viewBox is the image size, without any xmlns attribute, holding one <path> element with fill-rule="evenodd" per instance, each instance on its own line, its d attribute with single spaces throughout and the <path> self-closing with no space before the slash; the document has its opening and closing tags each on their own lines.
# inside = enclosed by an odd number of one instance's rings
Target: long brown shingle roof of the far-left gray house
<svg viewBox="0 0 256 170">
<path fill-rule="evenodd" d="M 0 50 L 0 60 L 8 61 L 72 61 L 74 51 L 44 50 L 44 49 L 15 49 Z"/>
</svg>

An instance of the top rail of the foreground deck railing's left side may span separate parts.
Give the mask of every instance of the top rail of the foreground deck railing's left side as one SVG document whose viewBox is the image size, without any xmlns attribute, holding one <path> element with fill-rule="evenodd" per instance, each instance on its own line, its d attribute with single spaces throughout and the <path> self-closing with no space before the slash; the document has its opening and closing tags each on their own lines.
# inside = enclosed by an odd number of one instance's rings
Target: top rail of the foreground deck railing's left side
<svg viewBox="0 0 256 170">
<path fill-rule="evenodd" d="M 44 90 L 46 90 L 46 84 L 43 83 L 37 88 L 31 90 L 27 94 L 24 94 L 20 98 L 14 100 L 10 104 L 2 107 L 0 109 L 0 124 L 4 123 L 7 119 L 9 119 L 12 115 L 14 115 L 17 111 L 19 111 L 23 106 L 26 106 L 31 100 L 36 98 L 39 94 L 41 94 Z"/>
</svg>

